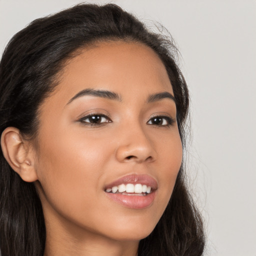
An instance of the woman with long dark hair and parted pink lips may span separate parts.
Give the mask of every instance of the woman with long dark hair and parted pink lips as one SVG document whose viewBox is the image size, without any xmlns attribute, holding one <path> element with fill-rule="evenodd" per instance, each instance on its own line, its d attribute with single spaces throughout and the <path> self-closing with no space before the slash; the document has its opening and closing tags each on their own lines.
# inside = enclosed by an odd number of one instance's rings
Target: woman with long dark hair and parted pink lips
<svg viewBox="0 0 256 256">
<path fill-rule="evenodd" d="M 201 255 L 175 47 L 114 4 L 31 22 L 0 63 L 2 255 Z"/>
</svg>

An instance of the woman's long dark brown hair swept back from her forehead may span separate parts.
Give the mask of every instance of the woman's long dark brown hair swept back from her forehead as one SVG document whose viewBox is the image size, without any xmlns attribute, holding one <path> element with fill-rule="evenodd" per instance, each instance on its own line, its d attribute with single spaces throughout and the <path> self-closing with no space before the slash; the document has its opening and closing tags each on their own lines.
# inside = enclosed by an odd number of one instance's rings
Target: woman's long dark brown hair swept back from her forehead
<svg viewBox="0 0 256 256">
<path fill-rule="evenodd" d="M 0 134 L 14 126 L 36 137 L 38 107 L 58 83 L 66 61 L 79 49 L 100 41 L 147 45 L 164 64 L 177 109 L 183 148 L 189 96 L 177 64 L 171 37 L 150 31 L 134 15 L 115 4 L 78 4 L 38 18 L 17 32 L 0 61 Z M 204 248 L 203 223 L 188 192 L 183 162 L 168 205 L 153 231 L 140 240 L 139 256 L 199 256 Z M 45 224 L 32 182 L 12 170 L 0 149 L 0 250 L 2 256 L 42 256 Z"/>
</svg>

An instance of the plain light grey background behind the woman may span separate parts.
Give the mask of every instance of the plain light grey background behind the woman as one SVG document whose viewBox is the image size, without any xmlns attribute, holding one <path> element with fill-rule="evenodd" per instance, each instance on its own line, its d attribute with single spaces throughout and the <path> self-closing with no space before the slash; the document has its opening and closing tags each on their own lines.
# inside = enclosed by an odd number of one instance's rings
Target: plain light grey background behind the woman
<svg viewBox="0 0 256 256">
<path fill-rule="evenodd" d="M 0 0 L 0 54 L 34 18 L 78 2 Z M 256 1 L 111 2 L 162 23 L 181 52 L 191 96 L 188 172 L 207 226 L 205 254 L 256 256 Z"/>
</svg>

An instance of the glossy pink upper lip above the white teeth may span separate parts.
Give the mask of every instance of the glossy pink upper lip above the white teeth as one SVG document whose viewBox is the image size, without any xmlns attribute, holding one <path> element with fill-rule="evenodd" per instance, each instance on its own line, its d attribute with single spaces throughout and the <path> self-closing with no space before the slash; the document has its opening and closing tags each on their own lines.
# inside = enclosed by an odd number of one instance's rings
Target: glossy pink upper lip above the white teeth
<svg viewBox="0 0 256 256">
<path fill-rule="evenodd" d="M 106 184 L 105 189 L 111 188 L 113 186 L 118 186 L 120 184 L 128 184 L 128 183 L 129 184 L 140 183 L 142 185 L 150 186 L 151 189 L 153 189 L 153 190 L 157 189 L 156 180 L 148 174 L 130 174 L 130 175 L 120 177 L 120 178 L 116 179 L 115 181 L 113 181 L 109 184 Z"/>
</svg>

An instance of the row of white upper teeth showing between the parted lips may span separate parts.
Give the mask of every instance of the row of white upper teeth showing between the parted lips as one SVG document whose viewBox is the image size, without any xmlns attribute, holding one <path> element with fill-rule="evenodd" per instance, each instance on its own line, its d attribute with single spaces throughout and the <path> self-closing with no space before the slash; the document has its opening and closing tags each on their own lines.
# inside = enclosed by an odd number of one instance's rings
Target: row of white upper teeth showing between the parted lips
<svg viewBox="0 0 256 256">
<path fill-rule="evenodd" d="M 151 192 L 151 187 L 147 186 L 147 185 L 142 185 L 142 184 L 120 184 L 118 186 L 113 186 L 112 188 L 107 188 L 105 190 L 106 192 L 112 192 L 112 193 L 136 193 L 136 195 L 138 194 L 142 194 L 142 193 L 150 193 Z M 134 194 L 135 195 L 135 194 Z"/>
</svg>

